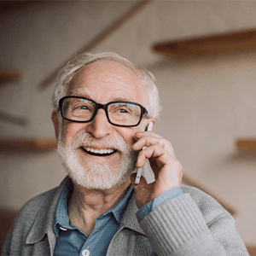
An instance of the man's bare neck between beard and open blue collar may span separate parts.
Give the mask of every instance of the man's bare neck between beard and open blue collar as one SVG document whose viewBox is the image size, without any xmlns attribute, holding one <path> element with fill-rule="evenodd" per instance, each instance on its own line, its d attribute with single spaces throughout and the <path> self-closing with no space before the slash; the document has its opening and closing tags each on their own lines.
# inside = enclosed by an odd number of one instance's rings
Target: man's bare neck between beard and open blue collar
<svg viewBox="0 0 256 256">
<path fill-rule="evenodd" d="M 68 202 L 70 224 L 79 227 L 86 236 L 94 229 L 96 218 L 115 207 L 125 196 L 130 179 L 119 187 L 108 190 L 85 189 L 73 184 L 73 193 Z"/>
</svg>

